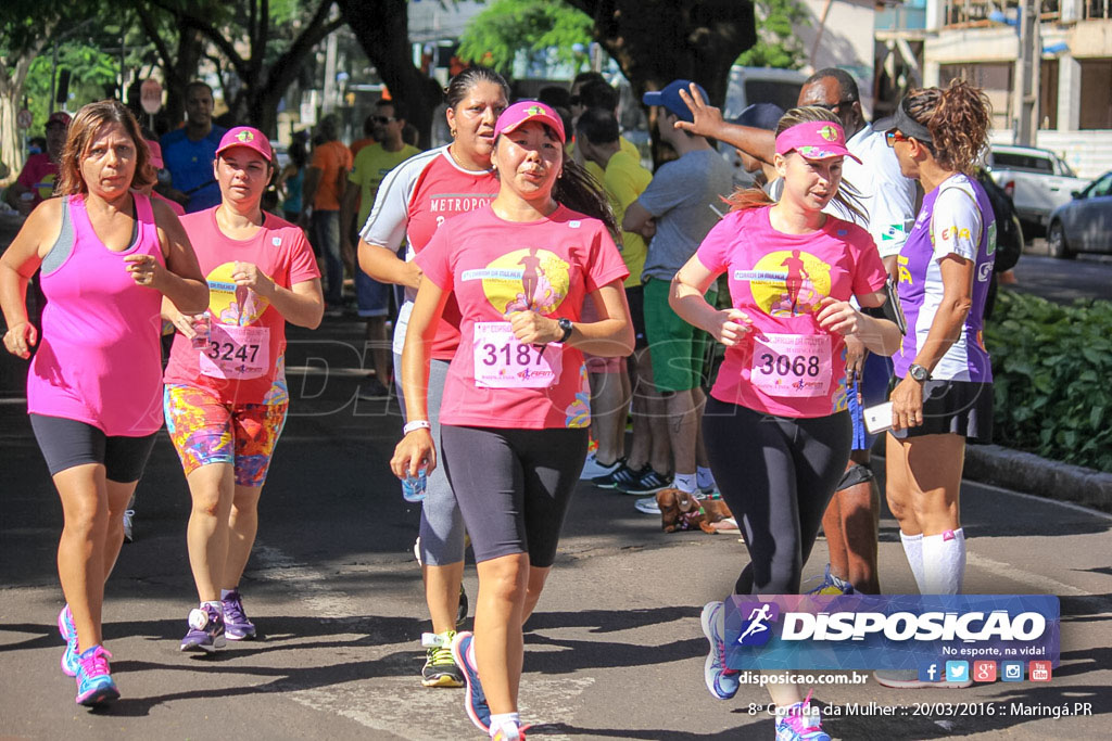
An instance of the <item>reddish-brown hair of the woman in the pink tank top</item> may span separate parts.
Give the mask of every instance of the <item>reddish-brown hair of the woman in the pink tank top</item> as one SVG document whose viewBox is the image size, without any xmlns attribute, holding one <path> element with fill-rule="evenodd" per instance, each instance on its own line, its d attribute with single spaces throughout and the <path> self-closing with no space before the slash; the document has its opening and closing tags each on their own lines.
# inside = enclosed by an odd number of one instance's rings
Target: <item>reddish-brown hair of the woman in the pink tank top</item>
<svg viewBox="0 0 1112 741">
<path fill-rule="evenodd" d="M 131 177 L 131 188 L 139 190 L 158 182 L 158 173 L 150 163 L 150 150 L 142 144 L 142 130 L 136 117 L 118 100 L 101 100 L 82 106 L 73 117 L 69 132 L 66 136 L 66 148 L 59 162 L 60 180 L 58 196 L 88 193 L 89 183 L 81 174 L 81 160 L 88 157 L 89 147 L 100 129 L 110 123 L 118 123 L 131 138 L 136 149 L 136 170 Z"/>
</svg>

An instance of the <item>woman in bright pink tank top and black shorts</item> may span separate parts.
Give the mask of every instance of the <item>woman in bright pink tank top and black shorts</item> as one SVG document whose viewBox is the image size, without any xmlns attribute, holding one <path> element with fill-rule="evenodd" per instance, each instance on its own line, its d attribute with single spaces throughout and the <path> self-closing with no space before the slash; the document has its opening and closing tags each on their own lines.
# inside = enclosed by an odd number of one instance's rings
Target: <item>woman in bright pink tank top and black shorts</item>
<svg viewBox="0 0 1112 741">
<path fill-rule="evenodd" d="M 67 605 L 62 671 L 77 701 L 119 697 L 101 645 L 105 581 L 123 542 L 123 509 L 162 424 L 162 297 L 202 311 L 208 287 L 168 207 L 132 189 L 152 181 L 139 126 L 117 101 L 82 108 L 62 153 L 61 198 L 31 213 L 0 258 L 8 352 L 34 359 L 31 425 L 61 497 L 58 574 Z M 27 287 L 39 271 L 48 306 L 30 323 Z"/>
</svg>

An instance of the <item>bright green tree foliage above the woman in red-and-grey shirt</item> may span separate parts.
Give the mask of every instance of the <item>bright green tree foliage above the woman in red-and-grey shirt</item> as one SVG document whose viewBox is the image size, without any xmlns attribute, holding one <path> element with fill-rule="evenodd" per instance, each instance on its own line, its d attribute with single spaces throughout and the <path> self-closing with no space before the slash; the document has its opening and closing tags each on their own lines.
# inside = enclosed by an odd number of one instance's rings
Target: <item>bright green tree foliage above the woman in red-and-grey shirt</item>
<svg viewBox="0 0 1112 741">
<path fill-rule="evenodd" d="M 459 58 L 509 72 L 518 53 L 555 50 L 556 59 L 578 66 L 590 43 L 590 18 L 563 0 L 495 0 L 467 27 Z"/>
</svg>

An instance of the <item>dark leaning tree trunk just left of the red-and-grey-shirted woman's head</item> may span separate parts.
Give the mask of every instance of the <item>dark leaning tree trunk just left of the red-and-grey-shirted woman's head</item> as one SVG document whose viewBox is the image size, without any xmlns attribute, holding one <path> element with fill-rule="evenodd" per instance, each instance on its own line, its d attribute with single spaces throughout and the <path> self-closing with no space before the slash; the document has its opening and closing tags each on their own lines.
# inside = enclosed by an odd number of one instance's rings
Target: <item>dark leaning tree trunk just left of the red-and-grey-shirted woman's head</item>
<svg viewBox="0 0 1112 741">
<path fill-rule="evenodd" d="M 337 0 L 344 19 L 390 94 L 406 103 L 419 146 L 431 146 L 433 112 L 444 100 L 440 86 L 414 67 L 406 0 Z"/>
</svg>

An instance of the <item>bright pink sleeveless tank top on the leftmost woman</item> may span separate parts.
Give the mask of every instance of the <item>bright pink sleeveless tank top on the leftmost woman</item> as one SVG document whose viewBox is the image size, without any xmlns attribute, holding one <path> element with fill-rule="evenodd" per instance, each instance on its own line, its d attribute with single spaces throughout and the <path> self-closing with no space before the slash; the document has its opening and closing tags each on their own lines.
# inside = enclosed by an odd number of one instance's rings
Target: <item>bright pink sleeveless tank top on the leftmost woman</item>
<svg viewBox="0 0 1112 741">
<path fill-rule="evenodd" d="M 85 197 L 68 197 L 73 244 L 58 268 L 40 277 L 47 306 L 27 377 L 29 412 L 86 422 L 109 437 L 142 437 L 162 425 L 162 294 L 136 286 L 123 258 L 165 260 L 150 200 L 132 198 L 138 237 L 113 252 L 93 231 Z"/>
</svg>

